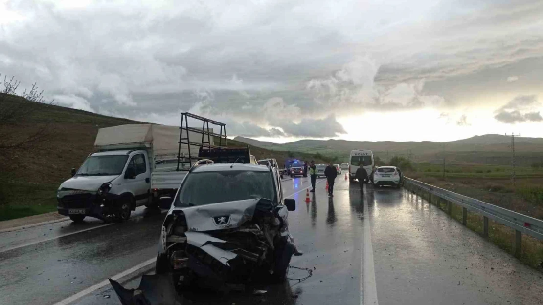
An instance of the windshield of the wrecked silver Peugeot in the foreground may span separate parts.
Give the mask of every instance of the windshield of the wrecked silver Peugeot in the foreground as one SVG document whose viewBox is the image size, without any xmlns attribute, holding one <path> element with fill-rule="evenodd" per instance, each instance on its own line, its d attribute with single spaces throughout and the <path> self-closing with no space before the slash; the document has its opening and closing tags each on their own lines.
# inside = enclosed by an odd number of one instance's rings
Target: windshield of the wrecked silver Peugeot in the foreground
<svg viewBox="0 0 543 305">
<path fill-rule="evenodd" d="M 277 202 L 270 172 L 222 171 L 188 174 L 174 200 L 179 207 L 266 198 Z"/>
</svg>

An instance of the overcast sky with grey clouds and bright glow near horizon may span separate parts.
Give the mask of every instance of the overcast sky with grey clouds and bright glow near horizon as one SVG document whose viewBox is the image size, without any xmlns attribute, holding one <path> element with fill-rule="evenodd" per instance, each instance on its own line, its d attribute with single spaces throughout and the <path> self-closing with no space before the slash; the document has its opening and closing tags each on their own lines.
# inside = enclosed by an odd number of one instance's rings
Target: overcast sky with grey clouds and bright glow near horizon
<svg viewBox="0 0 543 305">
<path fill-rule="evenodd" d="M 275 142 L 543 137 L 542 16 L 538 0 L 0 0 L 0 73 L 62 106 L 190 111 Z"/>
</svg>

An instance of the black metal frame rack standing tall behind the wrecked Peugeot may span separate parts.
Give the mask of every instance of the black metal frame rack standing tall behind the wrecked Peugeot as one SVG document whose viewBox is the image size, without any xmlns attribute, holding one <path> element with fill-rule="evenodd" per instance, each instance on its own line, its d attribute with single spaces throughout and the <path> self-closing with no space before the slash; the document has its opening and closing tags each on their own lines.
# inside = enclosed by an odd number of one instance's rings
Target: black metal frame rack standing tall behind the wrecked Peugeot
<svg viewBox="0 0 543 305">
<path fill-rule="evenodd" d="M 199 120 L 202 122 L 202 128 L 194 128 L 194 127 L 188 127 L 188 118 Z M 209 125 L 215 125 L 220 127 L 219 133 L 210 132 Z M 185 132 L 185 137 L 183 135 L 183 132 Z M 190 139 L 190 132 L 194 132 L 197 134 L 201 134 L 201 141 L 200 142 L 194 142 Z M 207 135 L 207 139 L 206 139 Z M 219 145 L 215 146 L 211 144 L 211 137 L 218 137 Z M 223 140 L 224 140 L 224 146 L 223 146 Z M 214 141 L 213 141 L 214 142 Z M 188 156 L 181 155 L 181 145 L 187 145 L 188 147 Z M 185 170 L 185 165 L 188 163 L 188 167 L 190 168 L 192 166 L 192 160 L 197 160 L 199 158 L 193 157 L 191 154 L 191 145 L 192 146 L 198 146 L 199 148 L 199 155 L 203 150 L 207 150 L 211 152 L 211 150 L 218 150 L 222 151 L 224 148 L 228 148 L 228 140 L 226 139 L 226 124 L 204 118 L 203 116 L 195 115 L 189 112 L 181 112 L 181 126 L 179 127 L 179 150 L 177 155 L 177 170 L 176 171 L 183 171 Z M 181 168 L 179 168 L 180 164 L 182 164 Z"/>
</svg>

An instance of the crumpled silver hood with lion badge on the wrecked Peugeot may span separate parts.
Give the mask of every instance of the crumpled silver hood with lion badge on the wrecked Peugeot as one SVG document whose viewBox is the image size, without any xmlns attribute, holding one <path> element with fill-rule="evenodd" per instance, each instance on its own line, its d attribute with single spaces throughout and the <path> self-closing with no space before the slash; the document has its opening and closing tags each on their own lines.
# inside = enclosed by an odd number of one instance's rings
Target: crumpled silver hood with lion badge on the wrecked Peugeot
<svg viewBox="0 0 543 305">
<path fill-rule="evenodd" d="M 234 229 L 252 219 L 255 210 L 270 211 L 273 203 L 269 199 L 255 198 L 214 203 L 191 207 L 174 207 L 173 211 L 185 214 L 188 231 L 214 231 Z"/>
</svg>

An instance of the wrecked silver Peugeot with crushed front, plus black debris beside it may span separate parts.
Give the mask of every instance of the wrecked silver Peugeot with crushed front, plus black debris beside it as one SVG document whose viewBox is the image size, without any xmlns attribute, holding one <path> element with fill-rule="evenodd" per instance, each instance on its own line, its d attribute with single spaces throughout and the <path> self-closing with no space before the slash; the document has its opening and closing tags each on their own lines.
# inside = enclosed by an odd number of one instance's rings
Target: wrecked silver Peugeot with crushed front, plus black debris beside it
<svg viewBox="0 0 543 305">
<path fill-rule="evenodd" d="M 146 278 L 145 285 L 159 285 L 166 277 L 171 290 L 182 295 L 193 285 L 226 292 L 284 281 L 292 255 L 301 255 L 288 232 L 288 211 L 293 210 L 294 199 L 283 199 L 276 167 L 194 166 L 162 225 L 157 277 Z M 146 298 L 145 291 L 130 293 L 115 281 L 112 285 L 123 304 Z"/>
</svg>

